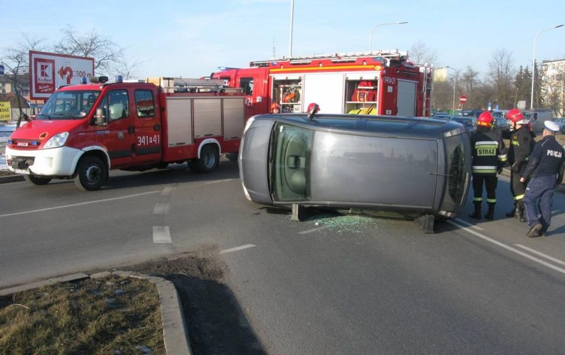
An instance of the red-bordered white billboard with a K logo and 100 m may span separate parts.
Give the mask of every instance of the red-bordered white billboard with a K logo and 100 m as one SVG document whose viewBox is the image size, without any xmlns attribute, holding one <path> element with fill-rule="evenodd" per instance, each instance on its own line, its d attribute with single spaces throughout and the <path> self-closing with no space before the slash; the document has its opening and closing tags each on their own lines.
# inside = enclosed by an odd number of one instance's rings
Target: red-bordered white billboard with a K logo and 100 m
<svg viewBox="0 0 565 355">
<path fill-rule="evenodd" d="M 94 58 L 29 51 L 29 97 L 47 99 L 62 85 L 80 84 L 94 75 Z"/>
</svg>

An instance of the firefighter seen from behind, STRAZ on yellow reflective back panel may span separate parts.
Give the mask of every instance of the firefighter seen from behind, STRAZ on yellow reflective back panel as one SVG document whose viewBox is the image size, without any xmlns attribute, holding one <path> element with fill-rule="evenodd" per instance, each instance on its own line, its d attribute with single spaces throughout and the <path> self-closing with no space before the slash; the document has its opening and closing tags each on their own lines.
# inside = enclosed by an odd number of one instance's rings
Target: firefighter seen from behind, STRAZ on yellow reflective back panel
<svg viewBox="0 0 565 355">
<path fill-rule="evenodd" d="M 497 173 L 502 172 L 506 163 L 506 147 L 501 135 L 493 131 L 494 119 L 490 112 L 481 113 L 477 119 L 477 131 L 471 135 L 471 155 L 473 165 L 473 204 L 475 212 L 469 217 L 481 219 L 483 205 L 483 182 L 486 185 L 486 204 L 489 209 L 485 218 L 494 220 L 494 205 L 496 204 Z"/>
</svg>

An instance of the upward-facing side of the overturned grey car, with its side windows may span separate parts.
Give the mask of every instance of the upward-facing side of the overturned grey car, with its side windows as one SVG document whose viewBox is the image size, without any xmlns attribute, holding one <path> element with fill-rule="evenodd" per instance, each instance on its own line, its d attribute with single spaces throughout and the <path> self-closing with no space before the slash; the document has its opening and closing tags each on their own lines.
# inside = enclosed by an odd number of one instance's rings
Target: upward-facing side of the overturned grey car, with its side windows
<svg viewBox="0 0 565 355">
<path fill-rule="evenodd" d="M 331 115 L 319 114 L 308 119 L 303 114 L 258 115 L 256 120 L 276 120 L 327 132 L 378 135 L 380 137 L 443 138 L 444 133 L 463 127 L 451 120 L 433 117 Z"/>
</svg>

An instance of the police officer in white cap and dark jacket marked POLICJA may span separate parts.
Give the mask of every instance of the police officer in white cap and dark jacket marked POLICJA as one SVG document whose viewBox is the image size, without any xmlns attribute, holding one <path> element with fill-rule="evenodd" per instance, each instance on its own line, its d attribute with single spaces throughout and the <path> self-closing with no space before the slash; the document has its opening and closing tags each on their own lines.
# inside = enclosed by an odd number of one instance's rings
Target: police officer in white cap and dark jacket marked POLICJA
<svg viewBox="0 0 565 355">
<path fill-rule="evenodd" d="M 528 217 L 528 238 L 544 235 L 551 223 L 551 205 L 553 192 L 563 181 L 565 169 L 565 150 L 555 140 L 559 126 L 551 121 L 544 122 L 544 138 L 533 148 L 528 165 L 524 169 L 521 181 L 532 177 L 526 188 L 524 204 Z M 541 219 L 537 218 L 534 200 L 540 199 Z"/>
</svg>

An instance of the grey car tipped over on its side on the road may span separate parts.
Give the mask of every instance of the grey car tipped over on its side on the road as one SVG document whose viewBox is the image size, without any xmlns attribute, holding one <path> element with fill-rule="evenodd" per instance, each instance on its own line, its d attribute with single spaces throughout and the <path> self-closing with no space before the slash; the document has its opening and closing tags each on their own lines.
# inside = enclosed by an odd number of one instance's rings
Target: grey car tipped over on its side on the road
<svg viewBox="0 0 565 355">
<path fill-rule="evenodd" d="M 240 177 L 260 204 L 445 219 L 467 199 L 470 149 L 463 126 L 445 120 L 259 115 L 245 127 Z"/>
</svg>

